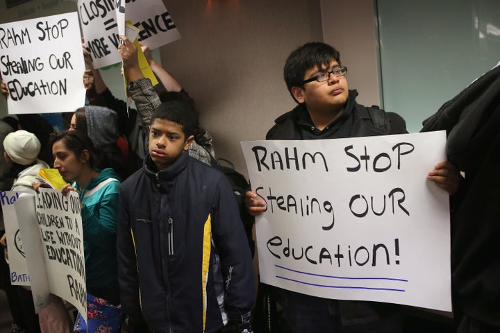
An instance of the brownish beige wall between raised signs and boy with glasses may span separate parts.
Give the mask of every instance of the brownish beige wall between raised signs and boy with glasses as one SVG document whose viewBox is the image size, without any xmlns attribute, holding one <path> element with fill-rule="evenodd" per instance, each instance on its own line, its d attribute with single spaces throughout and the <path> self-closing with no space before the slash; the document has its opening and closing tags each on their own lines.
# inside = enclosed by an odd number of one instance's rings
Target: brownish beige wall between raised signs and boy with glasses
<svg viewBox="0 0 500 333">
<path fill-rule="evenodd" d="M 322 40 L 319 0 L 164 0 L 183 38 L 163 66 L 190 93 L 218 157 L 247 173 L 240 142 L 265 139 L 295 103 L 283 81 L 294 48 Z"/>
</svg>

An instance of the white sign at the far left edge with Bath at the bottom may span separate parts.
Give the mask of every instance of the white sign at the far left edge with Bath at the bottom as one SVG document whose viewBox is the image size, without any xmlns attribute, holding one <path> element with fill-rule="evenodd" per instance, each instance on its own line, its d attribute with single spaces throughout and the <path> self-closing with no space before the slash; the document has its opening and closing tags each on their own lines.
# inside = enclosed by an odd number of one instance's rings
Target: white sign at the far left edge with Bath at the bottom
<svg viewBox="0 0 500 333">
<path fill-rule="evenodd" d="M 6 228 L 6 241 L 8 250 L 10 283 L 18 286 L 29 286 L 30 276 L 26 265 L 26 254 L 21 239 L 19 223 L 14 203 L 19 198 L 19 193 L 13 191 L 1 191 L 0 203 L 2 205 L 3 221 Z M 0 258 L 3 260 L 3 258 Z"/>
</svg>

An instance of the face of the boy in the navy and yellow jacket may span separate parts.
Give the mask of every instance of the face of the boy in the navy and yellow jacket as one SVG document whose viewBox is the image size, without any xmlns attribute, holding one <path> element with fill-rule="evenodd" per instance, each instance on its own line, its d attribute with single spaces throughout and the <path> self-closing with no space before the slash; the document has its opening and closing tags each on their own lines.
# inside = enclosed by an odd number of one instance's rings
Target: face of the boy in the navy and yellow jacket
<svg viewBox="0 0 500 333">
<path fill-rule="evenodd" d="M 167 119 L 156 118 L 149 130 L 149 155 L 156 170 L 163 170 L 174 164 L 183 151 L 187 151 L 193 136 L 185 139 L 181 125 Z"/>
</svg>

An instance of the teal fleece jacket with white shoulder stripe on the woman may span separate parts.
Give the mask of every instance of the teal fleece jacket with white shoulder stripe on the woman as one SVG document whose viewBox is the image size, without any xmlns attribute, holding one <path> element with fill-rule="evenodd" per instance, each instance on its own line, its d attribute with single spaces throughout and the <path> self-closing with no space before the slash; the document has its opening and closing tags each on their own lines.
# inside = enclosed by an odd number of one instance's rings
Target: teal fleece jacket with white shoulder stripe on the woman
<svg viewBox="0 0 500 333">
<path fill-rule="evenodd" d="M 83 203 L 81 217 L 87 288 L 105 287 L 117 281 L 116 233 L 120 185 L 119 176 L 111 168 L 103 169 L 83 189 L 74 183 Z"/>
</svg>

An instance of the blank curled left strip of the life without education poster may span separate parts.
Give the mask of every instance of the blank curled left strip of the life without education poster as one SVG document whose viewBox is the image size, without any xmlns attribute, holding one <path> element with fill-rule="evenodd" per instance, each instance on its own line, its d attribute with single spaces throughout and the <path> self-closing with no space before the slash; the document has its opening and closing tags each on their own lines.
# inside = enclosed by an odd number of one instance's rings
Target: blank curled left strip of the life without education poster
<svg viewBox="0 0 500 333">
<path fill-rule="evenodd" d="M 31 272 L 31 293 L 33 294 L 33 305 L 38 313 L 49 305 L 51 301 L 49 280 L 47 279 L 47 266 L 44 259 L 44 248 L 40 239 L 40 229 L 35 213 L 35 196 L 19 197 L 14 204 L 19 217 L 19 230 L 23 235 L 26 252 L 26 264 Z"/>
</svg>

